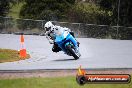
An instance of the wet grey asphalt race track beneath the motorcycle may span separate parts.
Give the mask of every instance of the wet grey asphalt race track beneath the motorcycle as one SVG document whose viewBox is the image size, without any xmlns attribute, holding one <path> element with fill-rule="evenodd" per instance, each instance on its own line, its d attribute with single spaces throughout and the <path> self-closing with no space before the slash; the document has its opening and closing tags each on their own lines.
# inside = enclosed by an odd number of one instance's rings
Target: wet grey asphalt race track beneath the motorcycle
<svg viewBox="0 0 132 88">
<path fill-rule="evenodd" d="M 0 70 L 132 68 L 132 40 L 78 38 L 78 60 L 63 52 L 53 53 L 45 36 L 25 35 L 30 59 L 0 63 Z M 20 36 L 0 34 L 0 48 L 20 49 Z"/>
</svg>

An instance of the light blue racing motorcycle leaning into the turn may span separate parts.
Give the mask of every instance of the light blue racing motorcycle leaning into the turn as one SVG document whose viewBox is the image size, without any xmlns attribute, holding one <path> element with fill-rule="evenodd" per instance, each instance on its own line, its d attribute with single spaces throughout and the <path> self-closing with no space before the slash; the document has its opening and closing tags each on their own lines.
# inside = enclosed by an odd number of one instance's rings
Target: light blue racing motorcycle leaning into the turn
<svg viewBox="0 0 132 88">
<path fill-rule="evenodd" d="M 73 56 L 75 60 L 79 59 L 81 56 L 77 41 L 68 31 L 64 31 L 63 33 L 56 35 L 55 43 L 64 53 L 69 56 Z"/>
</svg>

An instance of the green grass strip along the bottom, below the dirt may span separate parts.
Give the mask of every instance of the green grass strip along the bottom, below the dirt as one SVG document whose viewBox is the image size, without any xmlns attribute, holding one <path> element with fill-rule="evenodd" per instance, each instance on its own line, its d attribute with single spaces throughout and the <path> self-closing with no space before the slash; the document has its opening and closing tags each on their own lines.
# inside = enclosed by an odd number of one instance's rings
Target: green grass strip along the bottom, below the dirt
<svg viewBox="0 0 132 88">
<path fill-rule="evenodd" d="M 130 84 L 77 84 L 75 77 L 0 79 L 0 88 L 132 88 Z"/>
</svg>

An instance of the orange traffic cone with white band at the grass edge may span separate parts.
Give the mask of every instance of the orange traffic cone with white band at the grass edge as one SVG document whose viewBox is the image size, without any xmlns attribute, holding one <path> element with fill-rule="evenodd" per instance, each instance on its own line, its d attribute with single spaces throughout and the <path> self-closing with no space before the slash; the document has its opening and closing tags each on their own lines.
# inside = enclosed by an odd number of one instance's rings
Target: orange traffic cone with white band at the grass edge
<svg viewBox="0 0 132 88">
<path fill-rule="evenodd" d="M 26 49 L 24 48 L 24 36 L 20 36 L 20 44 L 21 44 L 21 49 L 20 49 L 20 57 L 25 58 L 27 56 Z"/>
</svg>

